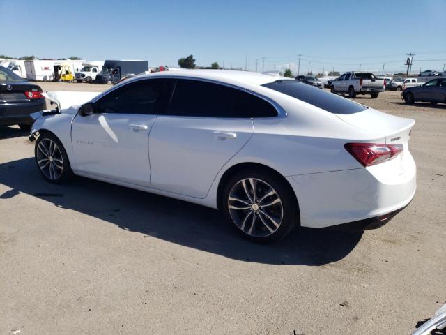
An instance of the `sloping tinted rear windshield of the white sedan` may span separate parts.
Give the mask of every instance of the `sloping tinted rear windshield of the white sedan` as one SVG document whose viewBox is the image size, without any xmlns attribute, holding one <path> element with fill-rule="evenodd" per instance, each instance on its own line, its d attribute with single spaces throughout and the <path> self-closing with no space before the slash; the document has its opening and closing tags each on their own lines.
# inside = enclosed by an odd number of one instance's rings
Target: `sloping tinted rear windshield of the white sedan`
<svg viewBox="0 0 446 335">
<path fill-rule="evenodd" d="M 298 82 L 297 80 L 277 80 L 263 84 L 263 86 L 286 94 L 287 96 L 292 96 L 293 98 L 333 114 L 354 114 L 367 110 L 367 107 L 359 103 L 353 103 L 353 101 L 349 101 L 346 98 Z"/>
</svg>

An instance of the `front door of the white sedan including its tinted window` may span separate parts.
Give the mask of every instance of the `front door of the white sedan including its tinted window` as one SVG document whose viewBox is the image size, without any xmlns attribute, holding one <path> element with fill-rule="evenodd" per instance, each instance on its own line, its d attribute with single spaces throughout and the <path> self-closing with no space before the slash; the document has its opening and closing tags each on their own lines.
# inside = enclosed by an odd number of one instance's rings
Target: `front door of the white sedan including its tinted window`
<svg viewBox="0 0 446 335">
<path fill-rule="evenodd" d="M 95 101 L 93 115 L 77 115 L 72 122 L 76 170 L 149 186 L 148 134 L 170 94 L 166 80 L 138 80 Z"/>
</svg>

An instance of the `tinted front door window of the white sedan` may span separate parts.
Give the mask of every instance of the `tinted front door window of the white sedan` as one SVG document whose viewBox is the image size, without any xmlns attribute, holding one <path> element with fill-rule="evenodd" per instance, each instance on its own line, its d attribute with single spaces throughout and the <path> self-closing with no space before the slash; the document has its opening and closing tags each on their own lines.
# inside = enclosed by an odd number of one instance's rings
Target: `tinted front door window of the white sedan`
<svg viewBox="0 0 446 335">
<path fill-rule="evenodd" d="M 162 114 L 169 103 L 173 81 L 139 80 L 115 89 L 95 103 L 96 113 Z"/>
</svg>

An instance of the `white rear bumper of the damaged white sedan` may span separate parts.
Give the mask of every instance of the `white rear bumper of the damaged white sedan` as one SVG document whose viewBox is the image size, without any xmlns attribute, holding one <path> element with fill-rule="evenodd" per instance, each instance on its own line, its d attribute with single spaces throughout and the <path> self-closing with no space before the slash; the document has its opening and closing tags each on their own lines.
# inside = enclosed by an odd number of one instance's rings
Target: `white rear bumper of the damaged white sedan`
<svg viewBox="0 0 446 335">
<path fill-rule="evenodd" d="M 311 228 L 378 228 L 415 195 L 417 172 L 408 150 L 371 166 L 287 177 L 298 198 L 300 225 Z"/>
</svg>

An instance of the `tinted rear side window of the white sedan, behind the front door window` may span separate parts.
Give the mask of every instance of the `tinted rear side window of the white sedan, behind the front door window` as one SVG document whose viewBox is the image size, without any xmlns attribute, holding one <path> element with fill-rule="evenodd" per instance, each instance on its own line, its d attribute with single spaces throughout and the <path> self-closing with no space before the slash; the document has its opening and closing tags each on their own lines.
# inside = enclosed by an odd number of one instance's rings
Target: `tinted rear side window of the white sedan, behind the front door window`
<svg viewBox="0 0 446 335">
<path fill-rule="evenodd" d="M 240 89 L 201 80 L 178 79 L 169 115 L 185 117 L 275 117 L 268 101 Z"/>
</svg>

